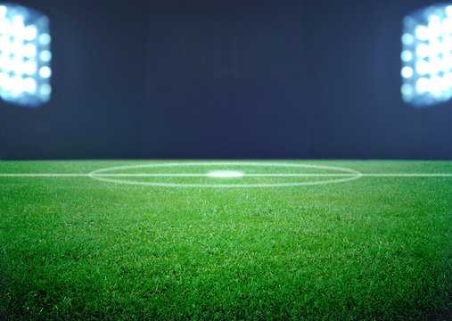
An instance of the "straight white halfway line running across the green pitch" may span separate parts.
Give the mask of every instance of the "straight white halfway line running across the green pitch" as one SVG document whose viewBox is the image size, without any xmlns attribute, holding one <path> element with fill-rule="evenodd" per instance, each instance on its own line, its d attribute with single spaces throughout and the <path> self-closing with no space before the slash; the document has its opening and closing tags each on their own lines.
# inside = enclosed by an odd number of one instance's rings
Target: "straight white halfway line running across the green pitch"
<svg viewBox="0 0 452 321">
<path fill-rule="evenodd" d="M 338 173 L 338 174 L 243 174 L 242 177 L 452 177 L 452 173 Z M 0 177 L 210 177 L 209 173 L 198 174 L 168 174 L 168 173 L 155 173 L 155 174 L 83 174 L 83 173 L 8 173 L 0 174 Z"/>
</svg>

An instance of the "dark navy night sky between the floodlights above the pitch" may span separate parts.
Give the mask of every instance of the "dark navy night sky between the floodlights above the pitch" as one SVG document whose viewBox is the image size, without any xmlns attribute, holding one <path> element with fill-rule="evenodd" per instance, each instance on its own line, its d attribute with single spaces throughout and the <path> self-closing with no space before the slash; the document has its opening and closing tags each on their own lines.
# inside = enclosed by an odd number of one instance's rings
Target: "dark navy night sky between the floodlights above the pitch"
<svg viewBox="0 0 452 321">
<path fill-rule="evenodd" d="M 452 159 L 452 103 L 400 97 L 382 1 L 16 1 L 45 12 L 53 98 L 0 103 L 0 159 Z"/>
</svg>

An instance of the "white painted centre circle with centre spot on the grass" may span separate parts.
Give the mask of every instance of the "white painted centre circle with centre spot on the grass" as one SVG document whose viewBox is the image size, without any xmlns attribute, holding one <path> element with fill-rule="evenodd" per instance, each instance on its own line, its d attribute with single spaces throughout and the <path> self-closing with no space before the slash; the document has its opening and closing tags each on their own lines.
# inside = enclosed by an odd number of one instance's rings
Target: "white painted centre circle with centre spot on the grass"
<svg viewBox="0 0 452 321">
<path fill-rule="evenodd" d="M 159 183 L 159 182 L 140 182 L 134 180 L 126 180 L 122 177 L 127 177 L 127 174 L 108 174 L 111 171 L 118 171 L 122 169 L 149 169 L 149 168 L 174 168 L 174 167 L 220 167 L 220 166 L 237 166 L 237 167 L 275 167 L 275 168 L 305 168 L 305 169 L 328 169 L 335 170 L 341 172 L 341 174 L 337 175 L 340 178 L 328 179 L 328 180 L 320 180 L 320 181 L 309 181 L 309 182 L 298 182 L 298 183 L 275 183 L 275 184 L 178 184 L 178 183 Z M 227 176 L 226 172 L 228 172 Z M 213 175 L 210 175 L 214 173 Z M 215 174 L 217 173 L 217 174 Z M 117 175 L 115 177 L 115 175 Z M 246 178 L 246 173 L 238 170 L 219 170 L 212 169 L 209 173 L 205 175 L 192 175 L 192 174 L 165 174 L 160 173 L 159 176 L 164 177 L 191 177 L 191 176 L 201 176 L 201 177 L 221 177 L 221 175 L 226 175 L 226 177 L 242 177 Z M 234 176 L 235 175 L 235 176 Z M 275 177 L 278 177 L 277 174 L 272 174 Z M 100 180 L 103 182 L 117 183 L 117 184 L 128 184 L 128 185 L 150 185 L 150 186 L 160 186 L 160 187 L 202 187 L 202 188 L 218 188 L 218 187 L 226 187 L 226 188 L 237 188 L 237 187 L 287 187 L 287 186 L 300 186 L 300 185 L 321 185 L 321 184 L 332 184 L 332 183 L 340 183 L 346 182 L 349 180 L 354 180 L 362 176 L 362 174 L 354 169 L 333 167 L 333 166 L 325 166 L 325 165 L 308 165 L 308 164 L 293 164 L 293 163 L 284 163 L 284 162 L 232 162 L 232 161 L 214 161 L 214 162 L 174 162 L 174 163 L 157 163 L 157 164 L 139 164 L 139 165 L 127 165 L 127 166 L 119 166 L 119 167 L 111 167 L 106 169 L 96 169 L 88 174 L 89 177 L 94 178 L 96 180 Z M 131 177 L 134 174 L 130 175 Z M 135 176 L 140 176 L 136 174 Z M 143 175 L 145 176 L 145 175 Z M 301 175 L 300 175 L 301 176 Z M 316 174 L 313 174 L 316 176 Z M 319 175 L 321 176 L 321 175 Z M 223 176 L 225 177 L 225 176 Z M 281 173 L 281 177 L 284 177 L 284 174 Z"/>
</svg>

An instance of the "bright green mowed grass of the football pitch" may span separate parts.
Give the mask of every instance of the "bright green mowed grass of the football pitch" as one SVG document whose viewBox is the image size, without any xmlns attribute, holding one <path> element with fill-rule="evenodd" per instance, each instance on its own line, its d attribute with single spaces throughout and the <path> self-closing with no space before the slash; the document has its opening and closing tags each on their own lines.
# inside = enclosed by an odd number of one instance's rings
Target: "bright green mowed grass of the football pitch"
<svg viewBox="0 0 452 321">
<path fill-rule="evenodd" d="M 161 162 L 0 161 L 0 174 Z M 286 162 L 452 173 L 451 161 Z M 448 320 L 451 191 L 452 177 L 267 188 L 0 177 L 0 319 Z"/>
</svg>

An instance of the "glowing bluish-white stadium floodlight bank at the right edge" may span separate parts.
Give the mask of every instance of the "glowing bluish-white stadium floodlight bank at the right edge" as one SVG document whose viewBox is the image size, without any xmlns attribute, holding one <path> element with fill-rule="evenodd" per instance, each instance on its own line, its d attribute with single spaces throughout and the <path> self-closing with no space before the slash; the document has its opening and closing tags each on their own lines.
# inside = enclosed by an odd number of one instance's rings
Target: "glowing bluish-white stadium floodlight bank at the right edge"
<svg viewBox="0 0 452 321">
<path fill-rule="evenodd" d="M 405 102 L 424 107 L 452 98 L 452 3 L 405 17 L 400 58 Z"/>
</svg>

